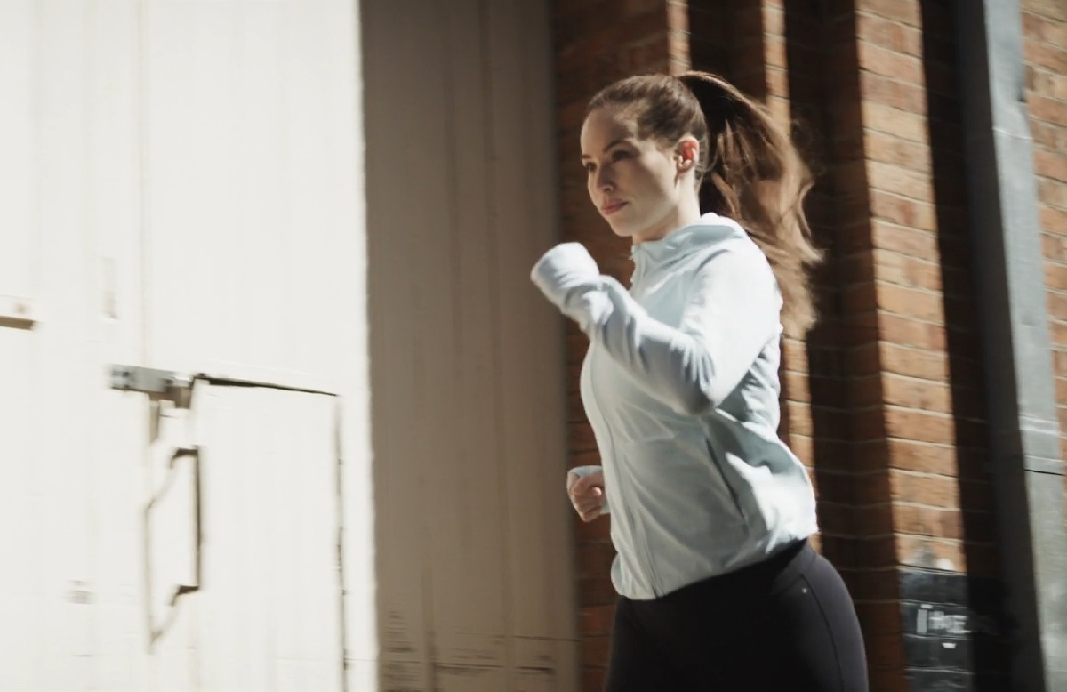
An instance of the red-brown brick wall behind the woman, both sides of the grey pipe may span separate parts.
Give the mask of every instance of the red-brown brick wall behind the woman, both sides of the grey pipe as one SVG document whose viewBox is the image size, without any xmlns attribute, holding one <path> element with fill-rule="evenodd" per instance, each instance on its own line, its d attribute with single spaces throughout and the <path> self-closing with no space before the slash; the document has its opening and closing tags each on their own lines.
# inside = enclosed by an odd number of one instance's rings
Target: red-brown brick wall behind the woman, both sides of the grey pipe
<svg viewBox="0 0 1067 692">
<path fill-rule="evenodd" d="M 1023 4 L 1067 430 L 1067 10 L 1056 0 Z M 780 433 L 815 481 L 816 546 L 856 598 L 872 690 L 1001 685 L 996 627 L 952 648 L 942 646 L 945 632 L 917 616 L 958 614 L 972 626 L 999 617 L 949 0 L 557 5 L 566 7 L 556 12 L 564 235 L 620 280 L 630 276 L 628 248 L 592 209 L 577 163 L 584 105 L 596 89 L 691 64 L 794 123 L 818 176 L 808 209 L 827 262 L 815 278 L 817 327 L 784 344 Z M 573 328 L 568 339 L 571 461 L 595 463 L 576 392 L 586 343 Z M 607 531 L 604 520 L 576 529 L 586 690 L 600 689 L 607 655 L 615 598 Z"/>
</svg>

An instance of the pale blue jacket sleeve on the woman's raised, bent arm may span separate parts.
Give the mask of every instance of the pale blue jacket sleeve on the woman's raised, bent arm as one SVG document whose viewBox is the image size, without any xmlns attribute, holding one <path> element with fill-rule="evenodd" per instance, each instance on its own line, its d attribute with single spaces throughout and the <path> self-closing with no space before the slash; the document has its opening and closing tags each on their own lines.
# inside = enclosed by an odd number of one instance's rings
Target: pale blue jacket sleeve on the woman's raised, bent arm
<svg viewBox="0 0 1067 692">
<path fill-rule="evenodd" d="M 590 271 L 591 258 L 573 249 L 554 255 L 558 249 L 535 267 L 535 282 L 641 387 L 680 413 L 719 406 L 780 333 L 778 284 L 763 252 L 747 239 L 722 243 L 696 270 L 678 328 L 650 316 L 615 279 Z M 560 277 L 563 286 L 553 283 Z"/>
</svg>

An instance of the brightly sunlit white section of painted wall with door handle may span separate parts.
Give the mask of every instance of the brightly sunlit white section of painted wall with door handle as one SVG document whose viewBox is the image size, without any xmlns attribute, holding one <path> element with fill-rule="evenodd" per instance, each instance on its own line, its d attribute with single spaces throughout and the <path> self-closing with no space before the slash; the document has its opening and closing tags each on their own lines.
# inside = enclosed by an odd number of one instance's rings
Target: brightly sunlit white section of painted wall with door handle
<svg viewBox="0 0 1067 692">
<path fill-rule="evenodd" d="M 375 689 L 359 38 L 348 0 L 0 2 L 0 690 L 341 689 L 343 645 Z M 185 413 L 111 363 L 340 395 L 339 482 L 335 397 Z"/>
</svg>

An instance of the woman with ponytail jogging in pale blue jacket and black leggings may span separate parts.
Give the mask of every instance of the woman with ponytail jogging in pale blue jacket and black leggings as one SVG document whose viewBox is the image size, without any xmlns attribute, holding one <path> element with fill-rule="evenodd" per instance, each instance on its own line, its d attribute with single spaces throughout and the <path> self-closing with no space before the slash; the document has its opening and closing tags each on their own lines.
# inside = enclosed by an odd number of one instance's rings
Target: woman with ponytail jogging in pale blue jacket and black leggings
<svg viewBox="0 0 1067 692">
<path fill-rule="evenodd" d="M 578 243 L 534 282 L 589 337 L 582 398 L 620 598 L 608 692 L 867 689 L 841 577 L 808 544 L 811 482 L 778 438 L 779 343 L 814 319 L 807 167 L 767 111 L 705 73 L 632 77 L 589 104 L 592 203 L 633 241 L 627 290 Z"/>
</svg>

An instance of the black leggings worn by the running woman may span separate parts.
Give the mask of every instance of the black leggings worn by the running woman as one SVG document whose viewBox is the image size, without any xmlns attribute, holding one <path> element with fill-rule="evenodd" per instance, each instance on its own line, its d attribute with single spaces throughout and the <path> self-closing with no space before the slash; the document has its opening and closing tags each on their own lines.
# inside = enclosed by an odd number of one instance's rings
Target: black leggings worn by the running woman
<svg viewBox="0 0 1067 692">
<path fill-rule="evenodd" d="M 655 600 L 620 598 L 607 692 L 865 692 L 841 576 L 807 540 Z"/>
</svg>

